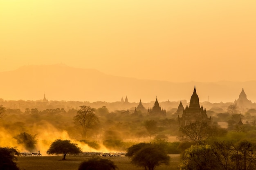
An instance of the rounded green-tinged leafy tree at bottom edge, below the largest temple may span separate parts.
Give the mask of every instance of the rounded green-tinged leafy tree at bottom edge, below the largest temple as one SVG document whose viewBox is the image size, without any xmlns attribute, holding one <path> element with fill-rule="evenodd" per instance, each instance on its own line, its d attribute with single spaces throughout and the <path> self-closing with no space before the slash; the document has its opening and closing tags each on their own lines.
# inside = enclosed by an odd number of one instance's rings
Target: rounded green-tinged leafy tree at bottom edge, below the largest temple
<svg viewBox="0 0 256 170">
<path fill-rule="evenodd" d="M 220 170 L 220 166 L 210 145 L 192 145 L 185 150 L 180 170 Z"/>
</svg>

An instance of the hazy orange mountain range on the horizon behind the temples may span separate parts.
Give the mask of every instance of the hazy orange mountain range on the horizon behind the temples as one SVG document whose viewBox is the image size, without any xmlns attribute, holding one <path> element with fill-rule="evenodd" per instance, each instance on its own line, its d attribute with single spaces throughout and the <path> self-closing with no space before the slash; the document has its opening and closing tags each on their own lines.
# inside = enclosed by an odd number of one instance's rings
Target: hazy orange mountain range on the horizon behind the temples
<svg viewBox="0 0 256 170">
<path fill-rule="evenodd" d="M 22 66 L 0 72 L 0 98 L 4 100 L 121 101 L 159 102 L 187 100 L 196 86 L 200 102 L 234 102 L 242 88 L 247 99 L 256 102 L 256 81 L 175 83 L 106 75 L 94 69 L 56 65 Z"/>
</svg>

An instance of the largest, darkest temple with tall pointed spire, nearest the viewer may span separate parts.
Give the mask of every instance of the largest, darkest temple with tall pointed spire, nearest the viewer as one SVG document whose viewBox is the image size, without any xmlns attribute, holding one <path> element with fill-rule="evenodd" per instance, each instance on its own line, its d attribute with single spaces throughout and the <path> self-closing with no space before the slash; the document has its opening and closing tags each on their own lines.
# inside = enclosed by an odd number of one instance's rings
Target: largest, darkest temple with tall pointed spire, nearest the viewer
<svg viewBox="0 0 256 170">
<path fill-rule="evenodd" d="M 195 121 L 207 121 L 208 124 L 211 124 L 211 117 L 207 116 L 206 109 L 203 108 L 203 106 L 200 107 L 199 97 L 196 94 L 196 89 L 194 88 L 190 104 L 183 110 L 182 117 L 178 115 L 178 122 L 180 126 L 185 126 Z"/>
</svg>

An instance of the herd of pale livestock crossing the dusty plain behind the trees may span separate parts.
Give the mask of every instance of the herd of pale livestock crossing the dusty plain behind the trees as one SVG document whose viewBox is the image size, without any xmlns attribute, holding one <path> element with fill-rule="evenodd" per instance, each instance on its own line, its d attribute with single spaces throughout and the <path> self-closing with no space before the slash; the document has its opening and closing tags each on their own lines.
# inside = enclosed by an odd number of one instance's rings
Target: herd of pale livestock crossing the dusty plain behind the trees
<svg viewBox="0 0 256 170">
<path fill-rule="evenodd" d="M 83 152 L 81 154 L 82 156 L 86 157 L 93 157 L 93 156 L 101 156 L 101 157 L 124 157 L 126 155 L 125 152 L 108 152 L 108 153 L 103 153 L 103 152 Z M 27 153 L 27 152 L 21 152 L 20 155 L 16 156 L 22 156 L 22 157 L 27 157 L 27 156 L 42 156 L 42 154 L 39 152 L 34 152 L 34 153 Z"/>
</svg>

